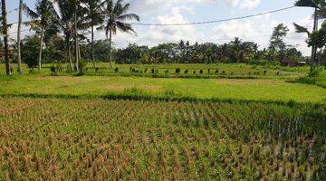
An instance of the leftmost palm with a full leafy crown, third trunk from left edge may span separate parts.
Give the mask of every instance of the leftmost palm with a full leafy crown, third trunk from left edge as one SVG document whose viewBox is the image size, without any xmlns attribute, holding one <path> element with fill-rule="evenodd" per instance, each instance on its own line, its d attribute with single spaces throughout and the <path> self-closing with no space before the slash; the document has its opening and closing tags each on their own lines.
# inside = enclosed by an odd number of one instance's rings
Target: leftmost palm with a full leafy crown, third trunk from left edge
<svg viewBox="0 0 326 181">
<path fill-rule="evenodd" d="M 37 0 L 35 3 L 36 11 L 31 10 L 24 5 L 25 12 L 28 16 L 35 20 L 35 23 L 41 28 L 40 53 L 38 60 L 38 68 L 42 69 L 42 53 L 43 53 L 43 37 L 44 32 L 53 23 L 55 14 L 53 3 L 50 0 Z"/>
</svg>

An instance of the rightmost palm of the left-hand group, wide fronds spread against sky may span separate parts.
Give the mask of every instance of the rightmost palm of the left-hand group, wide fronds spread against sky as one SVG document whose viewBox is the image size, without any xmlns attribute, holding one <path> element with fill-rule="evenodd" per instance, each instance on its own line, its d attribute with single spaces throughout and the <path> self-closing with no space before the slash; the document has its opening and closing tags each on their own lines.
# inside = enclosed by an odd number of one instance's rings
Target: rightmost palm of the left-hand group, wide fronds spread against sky
<svg viewBox="0 0 326 181">
<path fill-rule="evenodd" d="M 111 52 L 112 33 L 116 34 L 117 30 L 120 30 L 121 32 L 136 34 L 136 32 L 132 29 L 131 24 L 125 23 L 124 21 L 139 21 L 140 18 L 137 14 L 125 14 L 130 5 L 129 3 L 123 5 L 123 0 L 117 0 L 116 3 L 114 3 L 113 0 L 105 0 L 105 2 L 106 7 L 104 10 L 104 24 L 102 24 L 98 29 L 104 30 L 107 38 L 109 36 L 110 68 L 113 68 Z"/>
</svg>

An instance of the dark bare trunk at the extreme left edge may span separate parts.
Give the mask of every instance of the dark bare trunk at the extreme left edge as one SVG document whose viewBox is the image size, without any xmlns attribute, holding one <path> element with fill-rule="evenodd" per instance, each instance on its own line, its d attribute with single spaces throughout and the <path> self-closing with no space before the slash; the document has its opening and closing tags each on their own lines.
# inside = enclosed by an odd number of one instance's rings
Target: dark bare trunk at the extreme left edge
<svg viewBox="0 0 326 181">
<path fill-rule="evenodd" d="M 3 16 L 3 33 L 5 42 L 5 72 L 8 76 L 11 75 L 10 62 L 9 62 L 9 44 L 8 44 L 8 26 L 6 21 L 6 7 L 5 0 L 1 0 L 2 16 Z"/>
</svg>

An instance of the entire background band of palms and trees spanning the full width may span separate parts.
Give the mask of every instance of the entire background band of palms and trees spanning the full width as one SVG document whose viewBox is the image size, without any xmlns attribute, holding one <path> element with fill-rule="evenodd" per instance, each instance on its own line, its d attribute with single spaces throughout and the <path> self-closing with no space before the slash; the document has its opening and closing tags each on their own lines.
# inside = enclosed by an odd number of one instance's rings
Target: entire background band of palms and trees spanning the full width
<svg viewBox="0 0 326 181">
<path fill-rule="evenodd" d="M 36 0 L 35 8 L 30 8 L 20 0 L 17 41 L 9 42 L 6 22 L 5 0 L 2 3 L 1 45 L 4 47 L 5 69 L 8 75 L 13 71 L 12 63 L 18 64 L 18 72 L 23 73 L 22 62 L 28 67 L 42 69 L 45 62 L 68 62 L 69 69 L 80 71 L 84 62 L 91 62 L 97 68 L 97 62 L 118 63 L 210 63 L 210 62 L 267 62 L 303 61 L 304 57 L 294 46 L 284 43 L 289 29 L 279 24 L 273 29 L 270 45 L 259 49 L 257 43 L 244 42 L 240 38 L 229 43 L 161 43 L 157 46 L 129 44 L 118 49 L 112 44 L 112 35 L 118 30 L 136 33 L 130 20 L 139 21 L 139 15 L 129 14 L 129 3 L 123 0 Z M 297 6 L 315 8 L 314 29 L 294 24 L 297 33 L 307 33 L 307 43 L 312 46 L 313 67 L 325 63 L 326 23 L 318 29 L 318 20 L 326 17 L 324 0 L 299 0 Z M 23 22 L 22 15 L 27 14 L 31 21 Z M 28 25 L 35 34 L 21 39 L 21 26 Z M 94 40 L 95 33 L 104 31 L 107 39 Z"/>
</svg>

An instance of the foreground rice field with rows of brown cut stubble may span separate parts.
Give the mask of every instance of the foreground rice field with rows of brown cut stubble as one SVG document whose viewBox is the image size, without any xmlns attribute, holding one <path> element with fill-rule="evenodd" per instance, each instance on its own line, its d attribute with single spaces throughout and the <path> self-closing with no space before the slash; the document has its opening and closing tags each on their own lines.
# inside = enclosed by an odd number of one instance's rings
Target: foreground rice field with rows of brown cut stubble
<svg viewBox="0 0 326 181">
<path fill-rule="evenodd" d="M 325 105 L 0 98 L 0 180 L 323 180 Z"/>
</svg>

